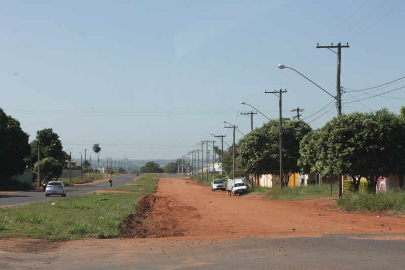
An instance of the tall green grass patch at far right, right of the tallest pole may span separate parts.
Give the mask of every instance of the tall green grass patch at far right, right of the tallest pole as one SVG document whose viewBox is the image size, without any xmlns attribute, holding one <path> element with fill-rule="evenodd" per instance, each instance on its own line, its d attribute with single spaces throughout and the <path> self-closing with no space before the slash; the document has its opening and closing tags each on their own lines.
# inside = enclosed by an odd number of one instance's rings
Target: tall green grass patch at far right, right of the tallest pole
<svg viewBox="0 0 405 270">
<path fill-rule="evenodd" d="M 405 192 L 400 189 L 377 194 L 358 192 L 356 194 L 345 194 L 338 200 L 338 206 L 346 211 L 379 211 L 379 210 L 405 210 Z"/>
</svg>

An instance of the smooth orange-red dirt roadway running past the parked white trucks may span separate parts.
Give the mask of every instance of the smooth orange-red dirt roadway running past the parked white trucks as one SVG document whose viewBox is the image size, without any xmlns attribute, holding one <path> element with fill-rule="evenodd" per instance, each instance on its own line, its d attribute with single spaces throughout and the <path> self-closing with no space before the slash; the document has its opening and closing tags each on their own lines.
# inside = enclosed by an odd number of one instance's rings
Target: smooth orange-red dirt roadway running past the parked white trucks
<svg viewBox="0 0 405 270">
<path fill-rule="evenodd" d="M 186 179 L 160 179 L 156 191 L 156 197 L 167 197 L 170 204 L 155 206 L 153 211 L 175 216 L 178 230 L 199 239 L 405 233 L 403 218 L 383 216 L 382 212 L 342 212 L 336 207 L 336 198 L 279 202 L 229 197 L 225 191 L 213 192 Z"/>
</svg>

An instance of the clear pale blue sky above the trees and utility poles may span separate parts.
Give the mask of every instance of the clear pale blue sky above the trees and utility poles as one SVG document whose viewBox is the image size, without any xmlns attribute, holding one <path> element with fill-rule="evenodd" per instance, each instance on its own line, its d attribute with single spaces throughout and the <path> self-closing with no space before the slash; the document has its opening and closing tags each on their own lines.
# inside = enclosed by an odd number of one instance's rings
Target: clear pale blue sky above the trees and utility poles
<svg viewBox="0 0 405 270">
<path fill-rule="evenodd" d="M 405 104 L 405 1 L 0 1 L 0 108 L 72 159 L 177 159 L 282 117 Z M 294 68 L 320 88 L 291 69 Z M 361 91 L 359 91 L 361 90 Z M 332 95 L 332 96 L 331 96 Z M 250 104 L 243 105 L 240 102 Z M 263 116 L 265 115 L 265 117 Z M 226 121 L 229 124 L 224 124 Z M 69 149 L 71 148 L 71 149 Z M 206 147 L 204 146 L 204 151 Z"/>
</svg>

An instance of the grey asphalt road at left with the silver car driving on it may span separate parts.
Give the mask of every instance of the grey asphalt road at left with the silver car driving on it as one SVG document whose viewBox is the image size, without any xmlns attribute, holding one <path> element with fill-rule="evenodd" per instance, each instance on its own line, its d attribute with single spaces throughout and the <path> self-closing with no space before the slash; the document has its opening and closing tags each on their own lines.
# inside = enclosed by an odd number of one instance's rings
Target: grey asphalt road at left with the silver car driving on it
<svg viewBox="0 0 405 270">
<path fill-rule="evenodd" d="M 127 183 L 131 183 L 135 178 L 140 176 L 135 176 L 135 174 L 123 174 L 114 176 L 112 178 L 112 186 L 121 186 Z M 73 195 L 83 195 L 88 194 L 100 189 L 109 188 L 108 180 L 89 183 L 86 185 L 75 185 L 68 186 L 66 189 L 66 196 Z M 23 192 L 13 192 L 13 193 L 2 193 L 0 194 L 0 207 L 19 205 L 19 204 L 30 204 L 35 202 L 53 200 L 57 196 L 45 197 L 44 190 L 30 190 Z"/>
</svg>

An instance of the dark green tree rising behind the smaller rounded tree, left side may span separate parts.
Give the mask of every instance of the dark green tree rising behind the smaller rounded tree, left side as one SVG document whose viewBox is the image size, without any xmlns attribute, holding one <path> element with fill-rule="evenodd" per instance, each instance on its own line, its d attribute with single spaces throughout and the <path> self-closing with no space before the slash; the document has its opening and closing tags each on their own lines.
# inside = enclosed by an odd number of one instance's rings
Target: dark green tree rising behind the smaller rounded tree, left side
<svg viewBox="0 0 405 270">
<path fill-rule="evenodd" d="M 62 168 L 67 166 L 69 155 L 63 151 L 63 146 L 62 142 L 59 140 L 59 135 L 53 132 L 52 129 L 43 129 L 36 132 L 36 139 L 30 143 L 31 159 L 33 161 L 38 160 L 38 144 L 40 160 L 51 157 L 54 158 L 62 166 Z"/>
</svg>

